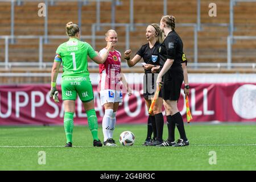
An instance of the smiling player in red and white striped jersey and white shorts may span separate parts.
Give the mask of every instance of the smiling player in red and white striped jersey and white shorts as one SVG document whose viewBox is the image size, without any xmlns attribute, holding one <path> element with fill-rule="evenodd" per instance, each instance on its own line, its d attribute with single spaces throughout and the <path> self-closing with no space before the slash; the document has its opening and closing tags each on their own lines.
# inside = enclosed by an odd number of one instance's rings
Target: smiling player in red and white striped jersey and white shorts
<svg viewBox="0 0 256 182">
<path fill-rule="evenodd" d="M 112 43 L 110 48 L 103 48 L 100 55 L 108 54 L 104 64 L 100 64 L 100 98 L 101 105 L 105 108 L 105 114 L 102 119 L 102 130 L 104 134 L 105 146 L 116 146 L 113 139 L 113 131 L 115 129 L 116 113 L 119 102 L 122 102 L 121 81 L 131 95 L 131 90 L 127 85 L 126 79 L 121 73 L 121 53 L 115 50 L 118 38 L 115 30 L 108 30 L 106 32 L 106 42 Z"/>
</svg>

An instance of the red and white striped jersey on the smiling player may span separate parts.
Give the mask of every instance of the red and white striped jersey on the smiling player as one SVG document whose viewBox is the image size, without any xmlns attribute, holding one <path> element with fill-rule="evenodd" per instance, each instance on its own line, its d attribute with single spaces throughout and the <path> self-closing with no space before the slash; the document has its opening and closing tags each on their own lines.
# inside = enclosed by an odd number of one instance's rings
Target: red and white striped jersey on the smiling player
<svg viewBox="0 0 256 182">
<path fill-rule="evenodd" d="M 106 48 L 101 49 L 100 55 L 107 51 Z M 119 89 L 120 73 L 121 73 L 121 53 L 115 50 L 110 51 L 108 58 L 104 64 L 99 64 L 100 68 L 100 90 Z"/>
</svg>

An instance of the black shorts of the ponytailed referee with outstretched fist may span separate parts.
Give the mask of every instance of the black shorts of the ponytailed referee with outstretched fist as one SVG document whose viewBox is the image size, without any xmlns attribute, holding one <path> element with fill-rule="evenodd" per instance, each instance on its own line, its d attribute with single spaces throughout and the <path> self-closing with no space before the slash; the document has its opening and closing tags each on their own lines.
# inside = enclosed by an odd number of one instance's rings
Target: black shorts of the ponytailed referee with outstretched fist
<svg viewBox="0 0 256 182">
<path fill-rule="evenodd" d="M 158 74 L 145 73 L 143 77 L 143 97 L 148 100 L 154 97 L 156 91 L 156 78 Z M 162 92 L 159 92 L 159 96 L 162 97 Z"/>
</svg>

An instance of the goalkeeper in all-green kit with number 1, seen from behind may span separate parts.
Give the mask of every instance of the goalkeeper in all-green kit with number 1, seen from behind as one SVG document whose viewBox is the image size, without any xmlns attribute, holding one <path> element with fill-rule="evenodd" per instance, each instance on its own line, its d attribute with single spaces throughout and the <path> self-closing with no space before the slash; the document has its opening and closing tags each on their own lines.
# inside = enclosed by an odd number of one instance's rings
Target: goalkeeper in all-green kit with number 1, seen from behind
<svg viewBox="0 0 256 182">
<path fill-rule="evenodd" d="M 62 100 L 64 101 L 64 129 L 67 138 L 65 147 L 72 147 L 73 114 L 75 113 L 75 101 L 79 95 L 88 118 L 89 129 L 93 137 L 93 146 L 101 147 L 98 139 L 98 119 L 94 110 L 94 96 L 92 84 L 89 78 L 88 60 L 90 57 L 95 63 L 103 64 L 109 54 L 112 43 L 107 45 L 108 51 L 102 57 L 93 50 L 90 44 L 81 42 L 80 28 L 72 22 L 67 23 L 66 32 L 69 36 L 68 42 L 60 44 L 57 48 L 55 60 L 51 73 L 50 96 L 59 102 L 57 97 L 56 79 L 61 62 L 63 63 L 63 75 L 61 82 Z"/>
</svg>

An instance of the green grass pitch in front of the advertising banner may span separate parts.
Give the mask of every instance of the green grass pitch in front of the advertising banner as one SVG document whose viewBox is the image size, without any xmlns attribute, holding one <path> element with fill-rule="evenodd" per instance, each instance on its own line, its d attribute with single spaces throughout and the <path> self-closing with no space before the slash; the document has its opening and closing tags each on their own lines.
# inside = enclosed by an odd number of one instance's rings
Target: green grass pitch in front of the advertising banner
<svg viewBox="0 0 256 182">
<path fill-rule="evenodd" d="M 120 146 L 119 134 L 130 130 L 134 146 Z M 256 125 L 185 124 L 190 146 L 141 146 L 146 125 L 117 125 L 117 147 L 92 147 L 88 126 L 75 126 L 73 147 L 65 148 L 63 126 L 0 127 L 0 170 L 256 170 Z M 103 140 L 102 129 L 99 137 Z M 164 126 L 164 139 L 167 126 Z M 176 139 L 179 138 L 176 129 Z M 38 152 L 46 164 L 38 164 Z M 216 164 L 213 154 L 216 152 Z"/>
</svg>

